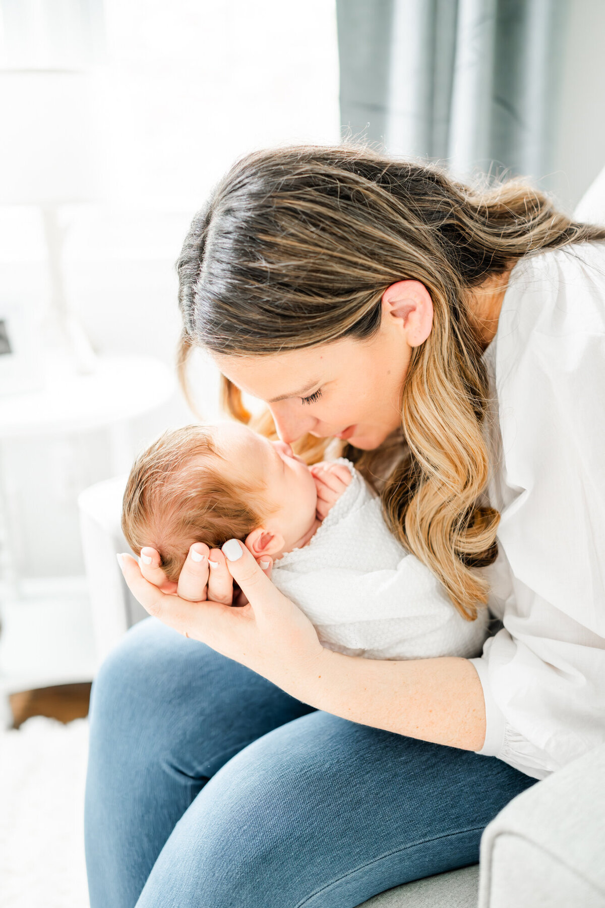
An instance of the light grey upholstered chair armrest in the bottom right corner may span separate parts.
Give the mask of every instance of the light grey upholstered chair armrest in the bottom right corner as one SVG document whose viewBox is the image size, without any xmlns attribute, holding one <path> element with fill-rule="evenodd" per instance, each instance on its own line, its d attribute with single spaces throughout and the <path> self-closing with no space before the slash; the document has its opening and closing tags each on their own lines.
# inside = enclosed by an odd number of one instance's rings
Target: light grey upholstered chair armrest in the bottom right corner
<svg viewBox="0 0 605 908">
<path fill-rule="evenodd" d="M 605 745 L 529 788 L 483 833 L 479 908 L 605 906 Z"/>
</svg>

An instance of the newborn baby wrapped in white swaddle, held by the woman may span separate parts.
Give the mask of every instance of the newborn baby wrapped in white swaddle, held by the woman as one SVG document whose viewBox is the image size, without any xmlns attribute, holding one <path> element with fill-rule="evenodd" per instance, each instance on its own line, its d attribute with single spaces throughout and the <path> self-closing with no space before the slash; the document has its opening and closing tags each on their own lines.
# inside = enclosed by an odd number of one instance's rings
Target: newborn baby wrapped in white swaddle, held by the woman
<svg viewBox="0 0 605 908">
<path fill-rule="evenodd" d="M 274 559 L 271 579 L 349 656 L 477 656 L 473 622 L 390 533 L 380 499 L 345 459 L 309 469 L 288 445 L 239 423 L 166 432 L 132 467 L 122 529 L 137 555 L 156 548 L 177 580 L 190 546 L 239 538 Z"/>
</svg>

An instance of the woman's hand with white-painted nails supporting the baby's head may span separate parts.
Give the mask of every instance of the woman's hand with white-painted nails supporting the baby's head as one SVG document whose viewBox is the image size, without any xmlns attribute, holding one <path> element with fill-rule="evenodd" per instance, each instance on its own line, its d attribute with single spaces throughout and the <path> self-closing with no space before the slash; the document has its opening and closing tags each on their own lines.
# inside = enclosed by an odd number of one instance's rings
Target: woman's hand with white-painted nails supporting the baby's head
<svg viewBox="0 0 605 908">
<path fill-rule="evenodd" d="M 172 591 L 167 591 L 154 549 L 141 550 L 141 568 L 130 555 L 118 560 L 132 595 L 150 615 L 184 637 L 200 640 L 248 666 L 292 696 L 300 696 L 304 679 L 316 670 L 324 648 L 307 616 L 264 572 L 271 569 L 270 558 L 260 568 L 237 539 L 229 539 L 222 551 L 195 543 Z M 233 580 L 246 605 L 230 606 Z"/>
</svg>

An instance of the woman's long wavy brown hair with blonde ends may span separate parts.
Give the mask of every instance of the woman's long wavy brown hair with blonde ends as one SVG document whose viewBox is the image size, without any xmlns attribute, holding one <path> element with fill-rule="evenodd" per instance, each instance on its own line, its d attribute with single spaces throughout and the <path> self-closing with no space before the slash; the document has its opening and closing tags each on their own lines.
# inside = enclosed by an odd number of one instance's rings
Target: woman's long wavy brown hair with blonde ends
<svg viewBox="0 0 605 908">
<path fill-rule="evenodd" d="M 469 291 L 522 256 L 590 240 L 605 240 L 605 230 L 571 221 L 524 181 L 464 185 L 436 165 L 347 145 L 249 154 L 196 214 L 182 248 L 181 382 L 187 391 L 195 346 L 263 356 L 371 338 L 386 288 L 421 281 L 434 326 L 412 353 L 401 433 L 382 449 L 343 453 L 381 480 L 391 530 L 472 620 L 487 600 L 477 568 L 497 556 L 500 515 L 482 501 L 489 390 Z M 223 400 L 249 422 L 227 380 Z M 270 414 L 259 428 L 275 432 Z M 327 440 L 301 439 L 298 453 L 321 459 Z"/>
</svg>

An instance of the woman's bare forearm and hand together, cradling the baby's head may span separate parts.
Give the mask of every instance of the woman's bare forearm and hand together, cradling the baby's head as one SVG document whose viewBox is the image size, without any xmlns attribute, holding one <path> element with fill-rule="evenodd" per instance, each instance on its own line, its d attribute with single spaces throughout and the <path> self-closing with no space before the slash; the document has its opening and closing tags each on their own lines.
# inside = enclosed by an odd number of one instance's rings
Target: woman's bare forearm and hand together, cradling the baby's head
<svg viewBox="0 0 605 908">
<path fill-rule="evenodd" d="M 309 706 L 435 744 L 482 747 L 483 689 L 470 662 L 449 656 L 399 662 L 327 650 L 307 616 L 271 583 L 247 548 L 231 539 L 223 551 L 231 577 L 249 600 L 244 607 L 205 598 L 204 562 L 188 558 L 179 595 L 173 595 L 155 585 L 156 577 L 145 579 L 134 558 L 121 556 L 120 561 L 132 594 L 151 615 Z M 148 576 L 151 570 L 161 575 L 159 562 L 147 568 Z M 194 595 L 198 601 L 191 601 Z"/>
</svg>

